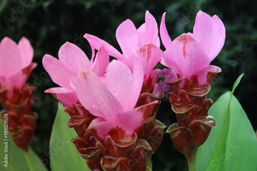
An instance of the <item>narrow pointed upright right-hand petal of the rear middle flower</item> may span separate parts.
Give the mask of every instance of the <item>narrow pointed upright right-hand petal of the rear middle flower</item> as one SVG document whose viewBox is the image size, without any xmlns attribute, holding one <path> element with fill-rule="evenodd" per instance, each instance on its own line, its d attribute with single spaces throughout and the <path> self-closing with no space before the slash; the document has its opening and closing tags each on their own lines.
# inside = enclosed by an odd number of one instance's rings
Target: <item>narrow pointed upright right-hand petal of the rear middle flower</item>
<svg viewBox="0 0 257 171">
<path fill-rule="evenodd" d="M 145 38 L 144 44 L 152 42 L 156 44 L 158 39 L 158 26 L 155 18 L 149 11 L 145 13 Z"/>
</svg>

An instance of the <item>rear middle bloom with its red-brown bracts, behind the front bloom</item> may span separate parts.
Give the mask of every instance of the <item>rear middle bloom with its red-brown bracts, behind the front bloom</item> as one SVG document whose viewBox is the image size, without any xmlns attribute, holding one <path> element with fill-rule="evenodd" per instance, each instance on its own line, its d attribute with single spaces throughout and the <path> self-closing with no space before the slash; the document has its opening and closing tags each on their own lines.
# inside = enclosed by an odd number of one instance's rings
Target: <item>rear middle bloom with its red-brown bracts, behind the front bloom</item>
<svg viewBox="0 0 257 171">
<path fill-rule="evenodd" d="M 155 18 L 149 11 L 145 13 L 145 23 L 138 29 L 135 27 L 130 19 L 125 20 L 119 25 L 116 30 L 116 38 L 122 50 L 122 54 L 114 47 L 109 45 L 106 41 L 89 34 L 85 34 L 84 37 L 94 46 L 95 49 L 99 49 L 103 46 L 108 54 L 116 57 L 117 59 L 126 63 L 128 67 L 132 69 L 133 56 L 137 56 L 141 59 L 143 65 L 143 86 L 141 89 L 141 95 L 138 99 L 137 105 L 140 106 L 160 99 L 164 95 L 161 82 L 157 83 L 159 69 L 154 69 L 157 62 L 163 56 L 163 52 L 159 49 L 160 41 L 158 37 L 158 27 Z M 154 69 L 154 70 L 153 70 Z M 148 158 L 159 147 L 162 140 L 162 134 L 164 125 L 155 119 L 158 110 L 159 103 L 156 104 L 155 109 L 152 111 L 145 124 L 142 126 L 139 137 L 148 141 L 152 147 Z M 161 135 L 156 139 L 155 135 Z M 153 138 L 155 137 L 153 141 Z"/>
</svg>

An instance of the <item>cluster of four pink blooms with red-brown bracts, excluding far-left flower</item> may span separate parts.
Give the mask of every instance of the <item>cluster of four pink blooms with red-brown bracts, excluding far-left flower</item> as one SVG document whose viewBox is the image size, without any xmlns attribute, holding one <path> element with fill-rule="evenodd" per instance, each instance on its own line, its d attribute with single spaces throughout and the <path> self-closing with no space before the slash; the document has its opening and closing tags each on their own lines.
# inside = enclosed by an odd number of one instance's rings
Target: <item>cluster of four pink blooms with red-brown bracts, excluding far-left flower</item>
<svg viewBox="0 0 257 171">
<path fill-rule="evenodd" d="M 43 58 L 46 71 L 60 86 L 45 92 L 64 104 L 71 117 L 68 126 L 78 134 L 72 142 L 92 170 L 151 170 L 151 156 L 165 127 L 155 119 L 156 113 L 167 91 L 172 91 L 167 96 L 178 120 L 168 132 L 180 152 L 187 156 L 196 151 L 215 125 L 207 113 L 212 101 L 206 94 L 221 71 L 209 64 L 224 45 L 224 25 L 217 16 L 200 11 L 193 33 L 172 41 L 164 17 L 165 13 L 160 25 L 164 52 L 157 22 L 146 11 L 138 29 L 130 19 L 117 28 L 122 53 L 85 34 L 92 49 L 90 60 L 69 42 L 60 48 L 59 60 Z M 115 59 L 110 62 L 109 56 Z M 154 69 L 158 62 L 169 69 Z M 166 81 L 158 82 L 159 76 Z"/>
</svg>

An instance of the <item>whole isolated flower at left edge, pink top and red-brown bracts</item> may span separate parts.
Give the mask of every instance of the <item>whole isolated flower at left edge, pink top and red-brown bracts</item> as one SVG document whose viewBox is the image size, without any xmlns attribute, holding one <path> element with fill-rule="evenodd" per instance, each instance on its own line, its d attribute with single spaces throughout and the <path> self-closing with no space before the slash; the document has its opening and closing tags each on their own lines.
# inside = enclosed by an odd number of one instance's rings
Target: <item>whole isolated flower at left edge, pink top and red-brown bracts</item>
<svg viewBox="0 0 257 171">
<path fill-rule="evenodd" d="M 32 112 L 32 92 L 26 80 L 36 63 L 31 62 L 33 48 L 27 38 L 22 37 L 18 44 L 5 37 L 0 43 L 0 101 L 4 107 L 1 117 L 8 114 L 8 131 L 13 142 L 28 150 L 35 130 L 38 115 Z"/>
</svg>

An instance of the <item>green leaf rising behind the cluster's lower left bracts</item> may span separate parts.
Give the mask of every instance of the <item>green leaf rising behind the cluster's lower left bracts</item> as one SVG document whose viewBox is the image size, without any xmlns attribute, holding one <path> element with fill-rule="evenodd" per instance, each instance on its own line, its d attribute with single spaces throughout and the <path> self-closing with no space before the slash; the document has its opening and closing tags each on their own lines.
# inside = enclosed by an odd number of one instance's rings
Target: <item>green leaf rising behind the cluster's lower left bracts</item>
<svg viewBox="0 0 257 171">
<path fill-rule="evenodd" d="M 71 139 L 77 137 L 74 129 L 68 127 L 69 115 L 59 104 L 50 138 L 50 166 L 52 171 L 90 170 L 80 156 Z"/>
</svg>

